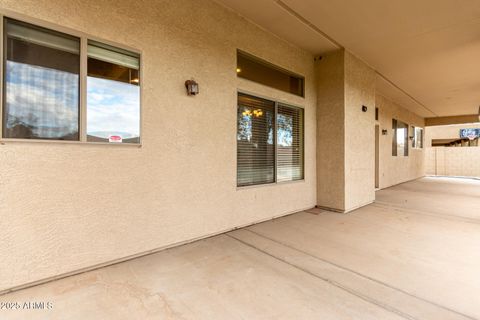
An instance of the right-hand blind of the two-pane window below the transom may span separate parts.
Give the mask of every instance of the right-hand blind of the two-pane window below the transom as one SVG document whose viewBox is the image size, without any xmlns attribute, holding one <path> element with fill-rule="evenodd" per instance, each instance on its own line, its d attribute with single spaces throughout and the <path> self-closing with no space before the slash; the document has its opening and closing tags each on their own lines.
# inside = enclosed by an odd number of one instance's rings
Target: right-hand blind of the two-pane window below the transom
<svg viewBox="0 0 480 320">
<path fill-rule="evenodd" d="M 303 179 L 303 109 L 277 108 L 277 181 Z"/>
</svg>

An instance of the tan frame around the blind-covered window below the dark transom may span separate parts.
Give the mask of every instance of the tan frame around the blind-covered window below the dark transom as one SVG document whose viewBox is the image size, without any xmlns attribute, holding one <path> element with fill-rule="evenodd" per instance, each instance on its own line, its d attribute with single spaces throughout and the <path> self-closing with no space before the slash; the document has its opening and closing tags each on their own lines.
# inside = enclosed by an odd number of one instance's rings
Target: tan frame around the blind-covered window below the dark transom
<svg viewBox="0 0 480 320">
<path fill-rule="evenodd" d="M 269 100 L 271 102 L 273 102 L 275 104 L 275 114 L 274 114 L 274 127 L 273 127 L 273 130 L 274 130 L 274 143 L 275 143 L 275 154 L 274 154 L 274 158 L 275 158 L 275 161 L 274 161 L 274 181 L 273 182 L 267 182 L 267 183 L 259 183 L 259 184 L 252 184 L 252 185 L 246 185 L 246 186 L 239 186 L 238 185 L 238 179 L 237 179 L 237 169 L 238 169 L 238 162 L 237 162 L 237 155 L 238 155 L 238 141 L 237 141 L 237 134 L 238 134 L 238 128 L 236 127 L 236 130 L 235 130 L 235 185 L 236 185 L 236 188 L 237 190 L 244 190 L 244 189 L 251 189 L 251 188 L 260 188 L 260 187 L 266 187 L 266 186 L 276 186 L 276 185 L 282 185 L 282 184 L 289 184 L 289 183 L 303 183 L 305 182 L 305 108 L 303 106 L 300 106 L 298 104 L 295 104 L 295 103 L 291 103 L 289 101 L 285 101 L 285 100 L 282 100 L 282 99 L 275 99 L 275 98 L 272 98 L 272 97 L 268 97 L 268 96 L 265 96 L 265 95 L 262 95 L 262 94 L 257 94 L 257 93 L 254 93 L 254 92 L 251 92 L 251 91 L 246 91 L 246 90 L 237 90 L 236 92 L 236 98 L 238 99 L 238 95 L 239 94 L 245 94 L 245 95 L 249 95 L 249 96 L 253 96 L 253 97 L 256 97 L 256 98 L 260 98 L 260 99 L 265 99 L 265 100 Z M 278 117 L 278 105 L 281 104 L 283 106 L 286 106 L 286 107 L 290 107 L 290 108 L 297 108 L 297 109 L 301 109 L 303 111 L 303 124 L 302 124 L 302 135 L 303 135 L 303 139 L 302 139 L 302 151 L 303 151 L 303 157 L 302 157 L 302 172 L 303 172 L 303 175 L 302 175 L 302 179 L 297 179 L 297 180 L 285 180 L 285 181 L 278 181 L 277 179 L 277 170 L 278 170 L 278 141 L 277 141 L 277 117 Z M 235 112 L 237 113 L 237 109 L 238 109 L 238 104 L 235 105 Z M 238 119 L 235 119 L 235 121 L 238 121 Z"/>
</svg>

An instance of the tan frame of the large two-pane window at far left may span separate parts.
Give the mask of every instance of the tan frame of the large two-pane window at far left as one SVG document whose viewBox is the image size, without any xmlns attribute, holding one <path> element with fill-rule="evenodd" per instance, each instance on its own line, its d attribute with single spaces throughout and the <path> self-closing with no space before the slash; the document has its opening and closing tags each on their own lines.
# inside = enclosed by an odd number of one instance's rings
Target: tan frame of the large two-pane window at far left
<svg viewBox="0 0 480 320">
<path fill-rule="evenodd" d="M 142 57 L 143 52 L 142 50 L 138 50 L 136 48 L 132 48 L 125 44 L 116 43 L 114 41 L 102 39 L 100 37 L 94 36 L 92 34 L 88 34 L 85 32 L 77 31 L 74 29 L 70 29 L 68 27 L 63 27 L 58 24 L 50 23 L 44 20 L 32 18 L 23 14 L 18 14 L 14 12 L 10 12 L 8 10 L 0 10 L 0 38 L 2 39 L 2 45 L 0 50 L 0 60 L 1 60 L 1 68 L 0 68 L 0 143 L 10 143 L 10 142 L 22 142 L 22 143 L 53 143 L 53 144 L 80 144 L 80 145 L 115 145 L 115 146 L 128 146 L 128 147 L 141 147 L 143 144 L 143 112 L 142 112 L 142 102 L 143 102 L 143 63 Z M 71 35 L 80 39 L 80 80 L 79 80 L 79 101 L 78 101 L 78 108 L 79 108 L 79 126 L 78 126 L 78 140 L 54 140 L 54 139 L 23 139 L 23 138 L 6 138 L 3 136 L 3 123 L 4 123 L 4 103 L 5 103 L 5 86 L 6 82 L 4 81 L 4 72 L 5 72 L 5 21 L 6 19 L 17 20 L 20 22 L 25 22 L 28 24 L 32 24 L 34 26 L 38 26 L 41 28 L 50 29 L 53 31 L 61 32 L 67 35 Z M 117 47 L 119 49 L 124 49 L 135 53 L 138 55 L 139 59 L 139 78 L 140 78 L 140 95 L 139 95 L 139 142 L 138 143 L 111 143 L 111 142 L 94 142 L 94 141 L 87 141 L 87 72 L 88 72 L 88 40 L 93 40 L 96 42 L 104 43 L 110 45 L 112 47 Z"/>
</svg>

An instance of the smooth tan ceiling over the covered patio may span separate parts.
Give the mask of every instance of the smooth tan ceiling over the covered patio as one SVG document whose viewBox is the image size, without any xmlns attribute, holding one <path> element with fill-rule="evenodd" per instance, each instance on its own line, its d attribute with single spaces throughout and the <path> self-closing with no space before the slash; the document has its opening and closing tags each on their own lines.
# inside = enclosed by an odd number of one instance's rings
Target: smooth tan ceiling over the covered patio
<svg viewBox="0 0 480 320">
<path fill-rule="evenodd" d="M 217 0 L 313 54 L 344 47 L 380 94 L 423 117 L 477 114 L 478 0 Z"/>
</svg>

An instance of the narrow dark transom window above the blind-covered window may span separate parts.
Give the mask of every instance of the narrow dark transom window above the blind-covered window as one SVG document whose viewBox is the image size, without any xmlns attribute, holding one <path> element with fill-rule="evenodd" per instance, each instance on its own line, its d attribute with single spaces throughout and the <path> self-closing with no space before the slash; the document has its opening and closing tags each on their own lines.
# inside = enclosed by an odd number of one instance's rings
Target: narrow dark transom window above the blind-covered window
<svg viewBox="0 0 480 320">
<path fill-rule="evenodd" d="M 304 96 L 305 79 L 302 76 L 242 51 L 237 52 L 237 75 L 297 96 Z"/>
</svg>

